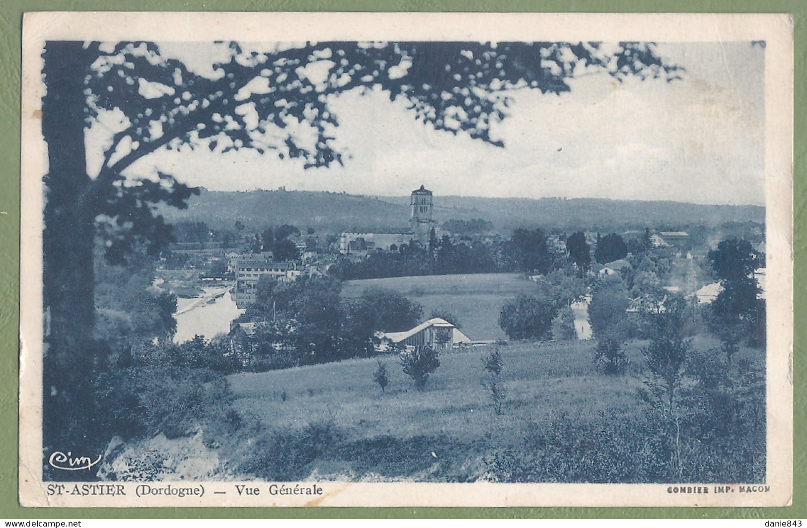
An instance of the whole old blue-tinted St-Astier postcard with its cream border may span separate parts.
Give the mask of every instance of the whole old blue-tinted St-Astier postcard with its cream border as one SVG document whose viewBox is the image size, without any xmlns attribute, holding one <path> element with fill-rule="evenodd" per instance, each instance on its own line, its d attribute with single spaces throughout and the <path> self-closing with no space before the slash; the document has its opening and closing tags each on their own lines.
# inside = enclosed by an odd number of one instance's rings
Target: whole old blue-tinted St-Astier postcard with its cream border
<svg viewBox="0 0 807 528">
<path fill-rule="evenodd" d="M 788 505 L 792 53 L 27 14 L 20 503 Z"/>
</svg>

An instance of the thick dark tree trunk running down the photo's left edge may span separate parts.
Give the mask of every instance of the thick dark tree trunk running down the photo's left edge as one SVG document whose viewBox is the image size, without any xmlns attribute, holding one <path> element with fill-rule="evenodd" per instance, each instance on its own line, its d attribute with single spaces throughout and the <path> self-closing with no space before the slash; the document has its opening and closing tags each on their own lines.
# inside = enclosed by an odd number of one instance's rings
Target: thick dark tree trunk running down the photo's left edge
<svg viewBox="0 0 807 528">
<path fill-rule="evenodd" d="M 88 448 L 98 448 L 87 445 L 92 443 L 93 431 L 86 430 L 90 418 L 82 416 L 82 409 L 89 409 L 96 355 L 92 339 L 94 214 L 86 199 L 80 199 L 91 183 L 86 170 L 83 93 L 90 55 L 81 42 L 48 42 L 44 52 L 48 90 L 42 103 L 42 135 L 48 143 L 42 240 L 46 457 L 51 451 L 72 449 L 84 455 Z"/>
</svg>

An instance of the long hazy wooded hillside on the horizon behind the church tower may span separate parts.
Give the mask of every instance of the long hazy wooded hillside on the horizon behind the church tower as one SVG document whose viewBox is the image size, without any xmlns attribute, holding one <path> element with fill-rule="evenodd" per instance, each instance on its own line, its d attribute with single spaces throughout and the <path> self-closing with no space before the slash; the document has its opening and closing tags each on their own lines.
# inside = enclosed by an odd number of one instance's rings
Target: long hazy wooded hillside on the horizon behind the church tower
<svg viewBox="0 0 807 528">
<path fill-rule="evenodd" d="M 682 202 L 642 202 L 600 198 L 483 198 L 435 196 L 434 218 L 483 218 L 497 231 L 542 227 L 587 231 L 622 228 L 703 225 L 765 221 L 762 206 L 704 206 Z M 248 229 L 290 223 L 317 231 L 395 229 L 408 227 L 409 197 L 366 197 L 308 191 L 221 192 L 203 190 L 187 210 L 161 208 L 168 222 L 193 220 L 214 228 L 232 228 L 236 220 Z"/>
</svg>

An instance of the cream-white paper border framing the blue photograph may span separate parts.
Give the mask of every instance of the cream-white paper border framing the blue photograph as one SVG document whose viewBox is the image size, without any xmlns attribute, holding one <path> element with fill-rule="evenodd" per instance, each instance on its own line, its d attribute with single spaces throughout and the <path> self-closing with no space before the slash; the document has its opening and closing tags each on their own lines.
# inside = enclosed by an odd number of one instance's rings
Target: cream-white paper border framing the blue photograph
<svg viewBox="0 0 807 528">
<path fill-rule="evenodd" d="M 166 31 L 166 28 L 170 28 Z M 765 40 L 767 251 L 767 480 L 763 493 L 673 493 L 671 484 L 424 484 L 320 482 L 318 497 L 238 497 L 232 483 L 202 485 L 203 497 L 48 495 L 42 481 L 40 133 L 41 50 L 46 39 L 165 40 Z M 788 15 L 29 13 L 23 28 L 19 496 L 26 506 L 763 506 L 792 501 L 792 19 Z M 104 483 L 107 484 L 107 483 Z M 165 487 L 169 483 L 154 485 Z M 291 483 L 291 486 L 314 483 Z M 728 484 L 728 483 L 727 483 Z M 72 484 L 70 484 L 72 485 Z M 83 485 L 83 484 L 78 484 Z M 286 484 L 288 485 L 288 484 Z M 702 484 L 712 488 L 714 484 Z M 739 485 L 739 484 L 731 484 Z M 697 487 L 684 484 L 684 487 Z M 130 493 L 130 489 L 132 489 Z M 222 489 L 226 495 L 214 494 Z"/>
</svg>

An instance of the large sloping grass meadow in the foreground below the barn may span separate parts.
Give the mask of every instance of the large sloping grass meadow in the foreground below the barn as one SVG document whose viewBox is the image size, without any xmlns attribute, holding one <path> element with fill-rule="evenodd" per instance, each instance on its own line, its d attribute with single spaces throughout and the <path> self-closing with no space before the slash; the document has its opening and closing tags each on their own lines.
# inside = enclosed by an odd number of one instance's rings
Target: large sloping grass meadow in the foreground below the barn
<svg viewBox="0 0 807 528">
<path fill-rule="evenodd" d="M 592 342 L 500 347 L 501 414 L 482 385 L 490 347 L 442 354 L 422 392 L 391 355 L 379 358 L 391 378 L 384 393 L 373 381 L 375 359 L 236 374 L 236 409 L 260 424 L 253 434 L 263 440 L 250 439 L 234 466 L 286 480 L 659 480 L 667 469 L 657 463 L 656 411 L 638 397 L 643 344 L 627 345 L 629 367 L 619 376 L 592 363 Z M 713 460 L 699 442 L 692 440 L 701 452 L 691 459 Z M 747 451 L 737 456 L 749 459 Z"/>
</svg>

